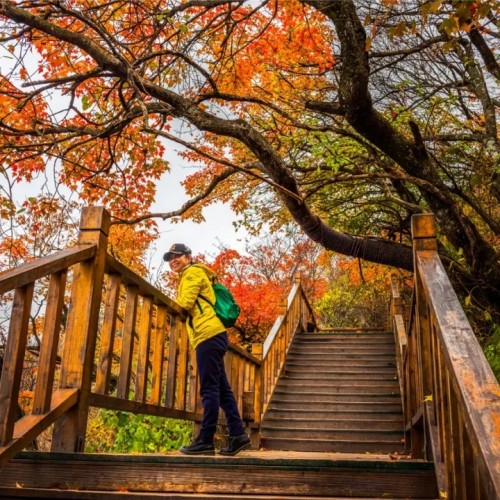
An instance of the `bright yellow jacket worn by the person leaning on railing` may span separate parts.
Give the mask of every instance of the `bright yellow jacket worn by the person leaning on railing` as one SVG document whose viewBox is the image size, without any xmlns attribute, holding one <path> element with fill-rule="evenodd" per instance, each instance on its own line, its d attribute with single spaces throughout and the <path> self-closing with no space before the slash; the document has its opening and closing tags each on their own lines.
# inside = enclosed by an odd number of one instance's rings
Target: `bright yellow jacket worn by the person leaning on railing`
<svg viewBox="0 0 500 500">
<path fill-rule="evenodd" d="M 186 321 L 189 342 L 195 349 L 198 344 L 226 330 L 210 304 L 215 304 L 211 279 L 214 272 L 205 264 L 191 264 L 180 273 L 177 304 L 189 313 Z M 210 304 L 200 298 L 203 295 Z"/>
</svg>

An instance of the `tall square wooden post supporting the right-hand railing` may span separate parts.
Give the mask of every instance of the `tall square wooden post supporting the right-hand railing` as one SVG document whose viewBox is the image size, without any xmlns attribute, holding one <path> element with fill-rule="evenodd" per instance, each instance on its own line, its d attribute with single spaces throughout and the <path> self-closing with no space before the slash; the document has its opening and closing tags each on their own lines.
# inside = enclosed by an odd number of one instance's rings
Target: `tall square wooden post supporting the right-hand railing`
<svg viewBox="0 0 500 500">
<path fill-rule="evenodd" d="M 415 405 L 411 408 L 413 415 L 420 407 L 424 407 L 425 401 L 432 400 L 432 360 L 431 360 L 431 331 L 429 308 L 425 294 L 422 289 L 422 282 L 418 270 L 417 255 L 419 252 L 436 251 L 436 219 L 433 214 L 414 215 L 411 220 L 411 230 L 413 239 L 413 258 L 414 258 L 414 286 L 416 293 L 416 339 L 413 339 L 412 345 L 416 352 L 410 353 L 410 363 L 413 364 L 414 380 L 410 381 L 411 392 L 415 397 Z M 422 412 L 422 414 L 425 412 Z M 422 424 L 425 418 L 422 418 Z M 425 458 L 426 456 L 426 437 L 423 425 L 412 428 L 411 448 L 415 458 Z"/>
</svg>

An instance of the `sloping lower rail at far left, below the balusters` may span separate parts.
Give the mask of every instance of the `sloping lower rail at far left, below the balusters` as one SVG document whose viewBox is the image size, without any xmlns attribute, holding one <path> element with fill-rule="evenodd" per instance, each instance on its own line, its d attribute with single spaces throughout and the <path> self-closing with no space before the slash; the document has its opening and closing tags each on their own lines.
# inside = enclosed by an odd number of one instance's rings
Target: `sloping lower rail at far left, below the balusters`
<svg viewBox="0 0 500 500">
<path fill-rule="evenodd" d="M 14 427 L 13 439 L 6 446 L 0 447 L 0 469 L 77 401 L 78 389 L 57 390 L 52 394 L 50 410 L 47 413 L 26 415 L 18 420 Z"/>
</svg>

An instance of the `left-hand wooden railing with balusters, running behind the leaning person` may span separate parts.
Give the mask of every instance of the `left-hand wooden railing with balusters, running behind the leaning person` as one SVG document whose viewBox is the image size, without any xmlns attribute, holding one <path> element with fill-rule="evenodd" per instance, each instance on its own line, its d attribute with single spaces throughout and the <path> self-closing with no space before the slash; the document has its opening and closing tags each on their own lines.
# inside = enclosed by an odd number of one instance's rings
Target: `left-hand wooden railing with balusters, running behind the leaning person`
<svg viewBox="0 0 500 500">
<path fill-rule="evenodd" d="M 0 378 L 0 467 L 52 424 L 52 451 L 83 451 L 91 406 L 200 421 L 186 312 L 107 254 L 109 228 L 105 210 L 87 208 L 75 248 L 0 274 L 0 293 L 13 294 Z M 16 420 L 33 293 L 47 281 L 33 406 Z M 254 442 L 291 337 L 314 323 L 298 279 L 281 313 L 257 356 L 231 344 L 225 357 Z"/>
</svg>

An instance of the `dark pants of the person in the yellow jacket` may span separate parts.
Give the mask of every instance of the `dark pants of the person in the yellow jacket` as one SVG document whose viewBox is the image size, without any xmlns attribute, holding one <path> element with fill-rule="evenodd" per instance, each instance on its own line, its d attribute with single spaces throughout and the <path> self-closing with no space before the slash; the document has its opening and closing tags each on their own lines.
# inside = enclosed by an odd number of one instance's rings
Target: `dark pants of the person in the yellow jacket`
<svg viewBox="0 0 500 500">
<path fill-rule="evenodd" d="M 199 437 L 203 441 L 213 441 L 219 417 L 219 408 L 226 415 L 230 436 L 244 433 L 233 391 L 227 380 L 224 367 L 229 341 L 227 333 L 219 333 L 196 347 L 196 362 L 200 377 L 200 395 L 203 405 L 203 419 Z"/>
</svg>

